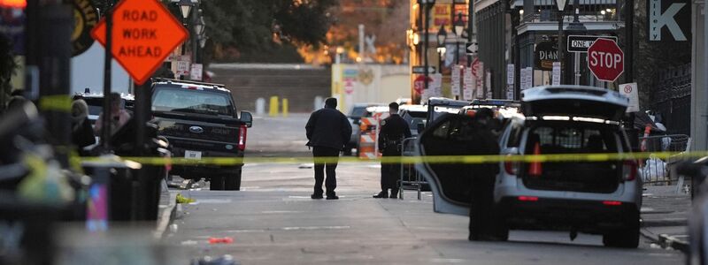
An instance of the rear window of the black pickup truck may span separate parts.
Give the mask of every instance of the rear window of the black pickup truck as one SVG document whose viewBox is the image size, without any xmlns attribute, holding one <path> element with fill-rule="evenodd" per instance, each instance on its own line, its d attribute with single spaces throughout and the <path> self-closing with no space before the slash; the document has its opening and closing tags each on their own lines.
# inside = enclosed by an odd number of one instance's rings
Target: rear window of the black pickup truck
<svg viewBox="0 0 708 265">
<path fill-rule="evenodd" d="M 234 105 L 225 93 L 173 87 L 156 87 L 152 110 L 234 115 Z"/>
</svg>

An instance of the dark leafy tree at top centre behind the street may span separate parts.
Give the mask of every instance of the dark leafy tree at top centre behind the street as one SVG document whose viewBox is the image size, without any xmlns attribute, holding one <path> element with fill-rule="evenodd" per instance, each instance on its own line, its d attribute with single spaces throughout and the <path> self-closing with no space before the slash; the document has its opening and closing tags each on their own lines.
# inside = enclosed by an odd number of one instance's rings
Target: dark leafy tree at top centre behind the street
<svg viewBox="0 0 708 265">
<path fill-rule="evenodd" d="M 318 47 L 335 0 L 212 0 L 202 2 L 207 57 L 219 61 L 302 61 L 296 46 Z M 281 57 L 273 57 L 273 54 Z"/>
</svg>

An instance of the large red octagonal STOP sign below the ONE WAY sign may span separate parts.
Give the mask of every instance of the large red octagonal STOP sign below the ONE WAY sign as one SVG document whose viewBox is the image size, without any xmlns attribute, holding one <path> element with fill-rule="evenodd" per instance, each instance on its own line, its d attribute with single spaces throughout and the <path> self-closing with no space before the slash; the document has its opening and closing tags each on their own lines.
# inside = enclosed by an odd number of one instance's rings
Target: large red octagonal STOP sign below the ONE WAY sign
<svg viewBox="0 0 708 265">
<path fill-rule="evenodd" d="M 597 79 L 614 82 L 625 72 L 625 53 L 617 42 L 597 39 L 588 48 L 588 68 Z"/>
</svg>

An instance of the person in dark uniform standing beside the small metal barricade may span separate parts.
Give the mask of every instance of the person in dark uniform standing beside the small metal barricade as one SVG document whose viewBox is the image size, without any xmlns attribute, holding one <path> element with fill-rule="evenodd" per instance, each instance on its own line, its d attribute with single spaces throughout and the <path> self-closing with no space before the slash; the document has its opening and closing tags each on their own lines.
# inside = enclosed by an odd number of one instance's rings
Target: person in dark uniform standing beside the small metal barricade
<svg viewBox="0 0 708 265">
<path fill-rule="evenodd" d="M 404 118 L 398 115 L 398 104 L 396 102 L 389 104 L 389 114 L 389 117 L 381 121 L 379 150 L 381 150 L 381 155 L 383 156 L 401 156 L 401 144 L 404 139 L 411 137 L 411 129 Z M 396 179 L 400 177 L 400 163 L 381 162 L 381 193 L 373 195 L 373 198 L 398 198 Z M 389 189 L 391 190 L 390 196 Z"/>
</svg>

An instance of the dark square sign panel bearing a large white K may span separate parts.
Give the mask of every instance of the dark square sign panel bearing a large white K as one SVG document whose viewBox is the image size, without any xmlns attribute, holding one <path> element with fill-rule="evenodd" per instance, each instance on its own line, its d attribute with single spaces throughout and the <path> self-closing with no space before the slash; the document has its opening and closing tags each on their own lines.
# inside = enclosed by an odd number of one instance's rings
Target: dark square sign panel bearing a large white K
<svg viewBox="0 0 708 265">
<path fill-rule="evenodd" d="M 649 0 L 650 42 L 689 42 L 691 40 L 690 0 Z"/>
</svg>

